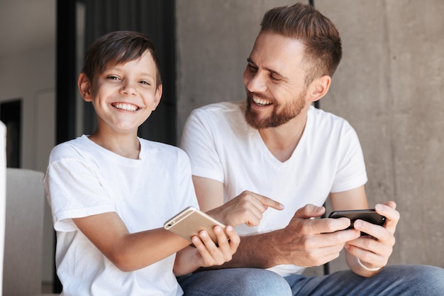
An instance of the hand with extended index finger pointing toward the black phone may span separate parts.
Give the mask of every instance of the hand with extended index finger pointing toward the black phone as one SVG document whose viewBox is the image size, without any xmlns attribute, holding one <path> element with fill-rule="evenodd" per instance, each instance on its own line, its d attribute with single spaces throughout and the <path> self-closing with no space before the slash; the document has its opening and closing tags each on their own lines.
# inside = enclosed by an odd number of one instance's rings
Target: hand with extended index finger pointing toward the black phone
<svg viewBox="0 0 444 296">
<path fill-rule="evenodd" d="M 247 226 L 256 226 L 268 207 L 284 209 L 283 204 L 273 199 L 254 192 L 244 191 L 226 204 L 221 205 L 221 207 L 207 212 L 207 214 L 231 226 L 238 226 L 243 223 Z"/>
</svg>

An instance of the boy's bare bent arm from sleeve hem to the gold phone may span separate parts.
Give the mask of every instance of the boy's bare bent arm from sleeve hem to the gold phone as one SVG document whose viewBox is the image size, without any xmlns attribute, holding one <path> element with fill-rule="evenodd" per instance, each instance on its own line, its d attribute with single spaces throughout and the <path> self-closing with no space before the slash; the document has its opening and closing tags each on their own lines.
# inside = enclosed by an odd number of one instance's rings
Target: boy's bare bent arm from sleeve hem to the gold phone
<svg viewBox="0 0 444 296">
<path fill-rule="evenodd" d="M 189 241 L 165 229 L 130 234 L 116 212 L 72 220 L 94 246 L 123 271 L 143 268 L 189 245 Z"/>
</svg>

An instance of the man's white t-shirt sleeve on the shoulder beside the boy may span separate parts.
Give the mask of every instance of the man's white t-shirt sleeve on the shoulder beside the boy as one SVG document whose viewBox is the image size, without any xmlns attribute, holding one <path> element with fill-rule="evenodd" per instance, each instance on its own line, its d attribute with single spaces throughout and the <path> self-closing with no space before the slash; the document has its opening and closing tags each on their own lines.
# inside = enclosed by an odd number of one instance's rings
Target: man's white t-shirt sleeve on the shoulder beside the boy
<svg viewBox="0 0 444 296">
<path fill-rule="evenodd" d="M 223 165 L 217 150 L 221 139 L 211 131 L 216 125 L 211 120 L 203 110 L 192 111 L 184 125 L 180 147 L 189 155 L 193 175 L 223 182 Z"/>
</svg>

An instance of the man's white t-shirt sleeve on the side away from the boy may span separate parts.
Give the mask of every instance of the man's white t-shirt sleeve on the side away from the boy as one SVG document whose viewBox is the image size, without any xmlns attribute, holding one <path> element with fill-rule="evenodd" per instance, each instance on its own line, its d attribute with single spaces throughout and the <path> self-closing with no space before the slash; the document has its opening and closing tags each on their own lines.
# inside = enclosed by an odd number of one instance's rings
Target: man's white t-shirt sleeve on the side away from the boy
<svg viewBox="0 0 444 296">
<path fill-rule="evenodd" d="M 347 123 L 341 133 L 338 151 L 342 151 L 343 155 L 338 161 L 331 192 L 352 190 L 367 182 L 364 156 L 355 130 Z"/>
</svg>

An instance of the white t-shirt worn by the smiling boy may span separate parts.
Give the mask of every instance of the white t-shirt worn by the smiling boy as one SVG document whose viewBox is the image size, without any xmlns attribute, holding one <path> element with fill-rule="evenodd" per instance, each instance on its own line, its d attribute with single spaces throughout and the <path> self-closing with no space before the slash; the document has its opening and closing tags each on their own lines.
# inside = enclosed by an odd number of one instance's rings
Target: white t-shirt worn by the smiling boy
<svg viewBox="0 0 444 296">
<path fill-rule="evenodd" d="M 133 272 L 116 268 L 72 218 L 117 212 L 131 233 L 157 229 L 197 207 L 189 159 L 179 148 L 139 139 L 138 160 L 79 137 L 50 155 L 45 190 L 57 231 L 62 295 L 182 295 L 172 272 L 175 254 Z"/>
</svg>

